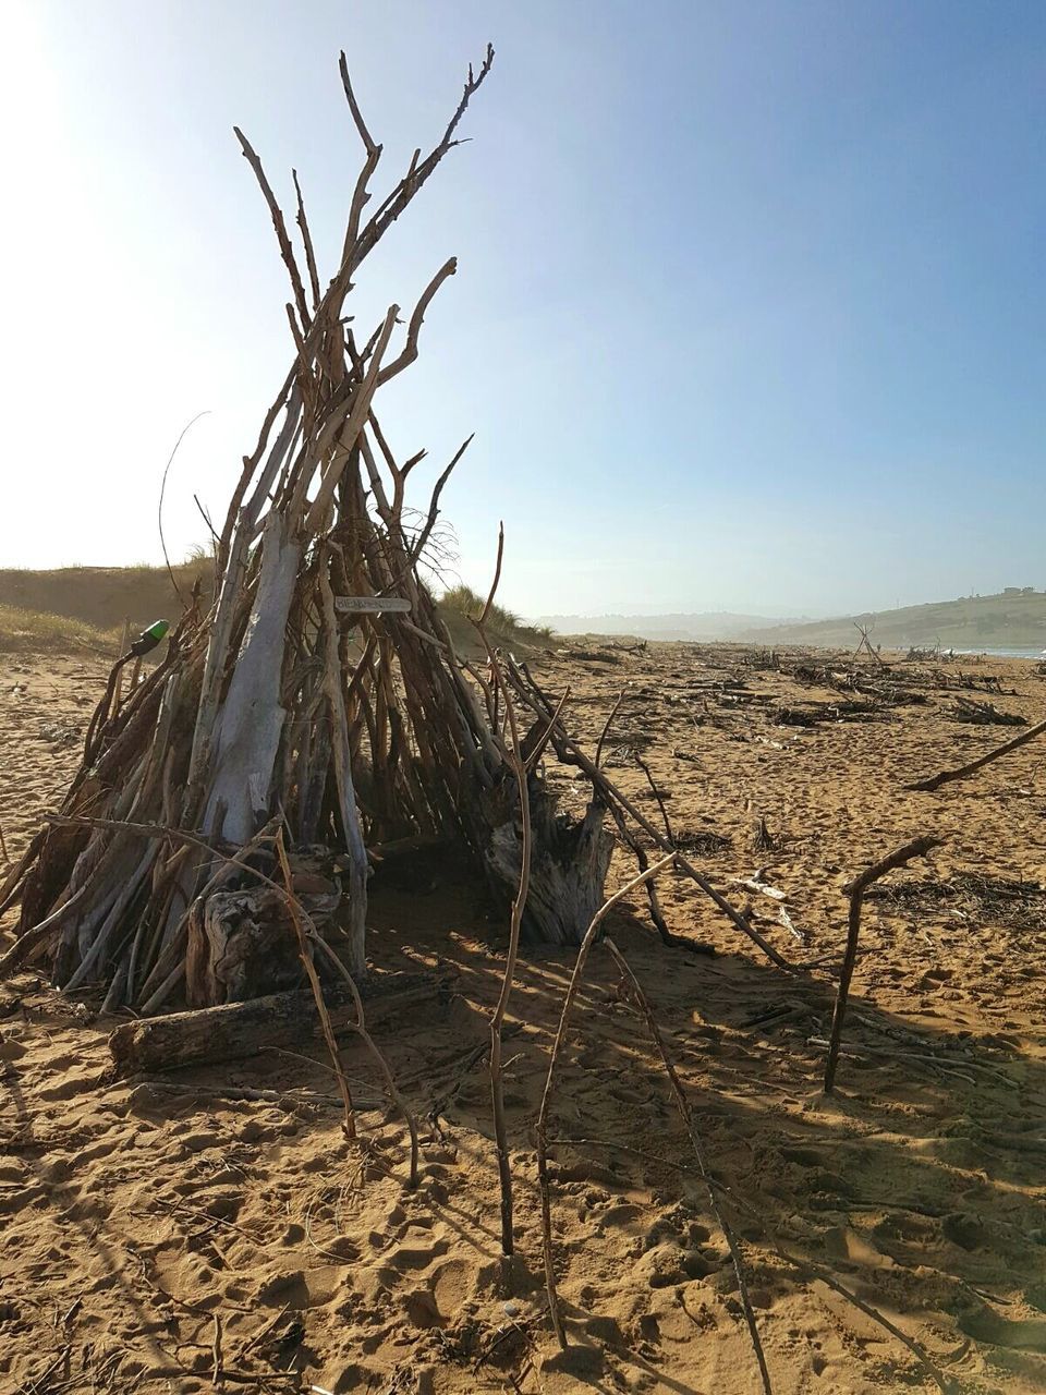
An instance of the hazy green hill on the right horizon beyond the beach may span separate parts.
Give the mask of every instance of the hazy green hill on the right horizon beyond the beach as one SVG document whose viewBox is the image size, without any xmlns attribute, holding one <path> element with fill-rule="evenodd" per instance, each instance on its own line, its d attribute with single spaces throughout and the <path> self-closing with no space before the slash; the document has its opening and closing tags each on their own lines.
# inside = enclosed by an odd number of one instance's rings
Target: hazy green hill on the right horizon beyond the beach
<svg viewBox="0 0 1046 1395">
<path fill-rule="evenodd" d="M 768 624 L 732 636 L 753 644 L 816 644 L 847 649 L 859 636 L 854 621 L 870 626 L 869 638 L 883 649 L 1046 649 L 1046 591 L 1010 587 L 997 596 L 962 596 L 955 601 L 904 605 L 901 610 L 808 624 Z"/>
</svg>

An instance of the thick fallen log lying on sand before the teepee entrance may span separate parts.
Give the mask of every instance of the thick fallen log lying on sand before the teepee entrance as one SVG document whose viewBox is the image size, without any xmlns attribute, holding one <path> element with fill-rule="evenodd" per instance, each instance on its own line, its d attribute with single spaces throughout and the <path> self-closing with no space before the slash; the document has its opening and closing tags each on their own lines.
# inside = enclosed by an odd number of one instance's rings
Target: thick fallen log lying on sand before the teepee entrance
<svg viewBox="0 0 1046 1395">
<path fill-rule="evenodd" d="M 445 1003 L 453 976 L 449 974 L 389 974 L 360 983 L 367 1025 L 393 1013 Z M 328 993 L 335 1032 L 356 1030 L 356 1007 L 346 993 Z M 222 1003 L 188 1013 L 167 1013 L 117 1027 L 109 1038 L 117 1074 L 177 1070 L 206 1062 L 254 1056 L 262 1046 L 282 1046 L 319 1032 L 319 1018 L 308 989 L 269 993 L 247 1003 Z"/>
</svg>

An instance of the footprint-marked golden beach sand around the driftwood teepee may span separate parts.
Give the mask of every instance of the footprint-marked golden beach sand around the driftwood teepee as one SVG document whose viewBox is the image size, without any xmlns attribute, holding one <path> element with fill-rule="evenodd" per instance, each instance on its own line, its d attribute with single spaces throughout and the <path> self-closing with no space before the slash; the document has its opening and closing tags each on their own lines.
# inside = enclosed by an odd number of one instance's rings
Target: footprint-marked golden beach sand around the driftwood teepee
<svg viewBox="0 0 1046 1395">
<path fill-rule="evenodd" d="M 661 880 L 668 921 L 711 942 L 714 958 L 662 949 L 642 894 L 626 903 L 635 914 L 611 922 L 729 1187 L 774 1391 L 934 1388 L 912 1352 L 820 1274 L 918 1342 L 950 1388 L 1046 1389 L 1046 894 L 997 880 L 1046 879 L 1046 742 L 937 794 L 905 794 L 914 774 L 1010 732 L 948 721 L 944 692 L 888 721 L 778 727 L 775 703 L 833 695 L 745 671 L 755 700 L 710 698 L 704 685 L 741 672 L 739 660 L 674 644 L 549 657 L 540 671 L 551 688 L 573 685 L 589 741 L 630 685 L 609 774 L 657 815 L 626 749 L 642 748 L 681 838 L 729 840 L 695 857 L 739 904 L 749 893 L 732 879 L 764 869 L 806 942 L 775 923 L 777 901 L 752 894 L 760 929 L 785 954 L 837 963 L 847 877 L 915 834 L 947 844 L 893 883 L 987 879 L 869 898 L 831 1101 L 820 1094 L 826 971 L 773 968 L 678 877 Z M 1018 691 L 994 698 L 1000 707 L 1043 716 L 1046 682 L 1031 664 L 990 671 Z M 0 820 L 11 857 L 75 764 L 99 675 L 74 658 L 3 661 Z M 584 784 L 565 771 L 562 785 L 582 806 Z M 760 817 L 770 851 L 752 845 Z M 616 854 L 611 884 L 630 872 Z M 512 1000 L 519 1260 L 506 1279 L 477 1063 L 505 928 L 471 883 L 438 865 L 413 890 L 377 889 L 371 926 L 375 964 L 457 970 L 449 1006 L 379 1032 L 420 1115 L 452 1096 L 438 1124 L 424 1124 L 414 1193 L 404 1127 L 351 1042 L 363 1163 L 342 1136 L 315 1039 L 303 1056 L 119 1083 L 107 1073 L 112 1021 L 33 975 L 0 985 L 0 1389 L 211 1391 L 218 1342 L 225 1391 L 759 1391 L 724 1237 L 605 951 L 593 951 L 552 1127 L 594 1140 L 555 1149 L 573 1343 L 561 1355 L 541 1288 L 531 1126 L 573 956 L 530 951 Z M 237 1098 L 244 1088 L 273 1094 Z M 813 1267 L 785 1261 L 774 1242 Z"/>
</svg>

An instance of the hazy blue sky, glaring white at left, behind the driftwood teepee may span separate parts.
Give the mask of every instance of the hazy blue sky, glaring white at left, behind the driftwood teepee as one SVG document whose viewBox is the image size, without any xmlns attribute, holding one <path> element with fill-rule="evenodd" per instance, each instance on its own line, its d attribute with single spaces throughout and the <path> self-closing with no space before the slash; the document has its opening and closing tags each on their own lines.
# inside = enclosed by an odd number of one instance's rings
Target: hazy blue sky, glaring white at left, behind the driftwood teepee
<svg viewBox="0 0 1046 1395">
<path fill-rule="evenodd" d="M 462 576 L 527 614 L 824 612 L 1046 586 L 1042 0 L 0 0 L 0 565 L 176 555 L 290 361 L 243 126 L 324 283 L 402 174 L 370 329 L 450 254 L 385 393 Z M 423 472 L 418 472 L 421 476 Z M 417 498 L 417 502 L 424 502 Z"/>
</svg>

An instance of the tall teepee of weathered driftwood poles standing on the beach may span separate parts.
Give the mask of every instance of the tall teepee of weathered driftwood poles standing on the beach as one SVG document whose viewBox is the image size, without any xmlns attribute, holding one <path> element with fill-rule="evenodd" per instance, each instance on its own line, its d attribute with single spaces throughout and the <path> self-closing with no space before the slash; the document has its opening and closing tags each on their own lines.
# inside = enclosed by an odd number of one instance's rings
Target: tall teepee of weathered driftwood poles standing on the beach
<svg viewBox="0 0 1046 1395">
<path fill-rule="evenodd" d="M 290 276 L 294 361 L 244 459 L 216 543 L 213 604 L 194 597 L 166 656 L 123 702 L 117 675 L 128 656 L 116 665 L 60 812 L 0 891 L 0 905 L 21 901 L 8 961 L 45 963 L 63 988 L 100 985 L 110 1009 L 128 1003 L 146 1014 L 181 993 L 202 1006 L 279 988 L 300 965 L 286 904 L 264 882 L 276 868 L 278 831 L 298 868 L 317 845 L 331 850 L 332 882 L 321 883 L 312 910 L 339 918 L 353 974 L 365 971 L 375 844 L 453 837 L 506 900 L 516 890 L 519 756 L 503 737 L 499 672 L 491 665 L 484 677 L 457 657 L 418 573 L 441 491 L 469 442 L 428 508 L 411 513 L 406 485 L 420 458 L 397 463 L 375 416 L 378 391 L 417 359 L 425 311 L 455 261 L 432 278 L 406 329 L 391 306 L 363 340 L 344 312 L 364 261 L 456 144 L 492 57 L 488 49 L 478 73 L 470 68 L 439 142 L 414 153 L 364 219 L 381 146 L 342 56 L 364 159 L 326 290 L 297 176 L 300 252 L 237 131 Z M 596 795 L 572 823 L 534 774 L 549 725 L 536 714 L 522 742 L 527 921 L 543 937 L 576 942 L 602 897 L 609 836 Z M 294 890 L 307 900 L 305 883 L 303 873 Z"/>
</svg>

